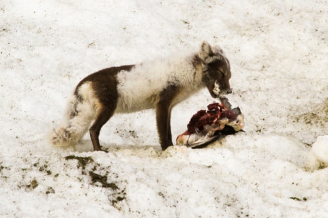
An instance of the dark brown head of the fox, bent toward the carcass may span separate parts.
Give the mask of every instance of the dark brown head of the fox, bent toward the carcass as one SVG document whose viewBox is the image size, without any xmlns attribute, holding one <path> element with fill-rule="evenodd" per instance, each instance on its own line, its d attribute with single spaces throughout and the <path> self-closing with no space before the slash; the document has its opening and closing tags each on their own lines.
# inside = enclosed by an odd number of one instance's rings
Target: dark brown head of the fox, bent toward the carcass
<svg viewBox="0 0 328 218">
<path fill-rule="evenodd" d="M 229 79 L 231 77 L 230 63 L 221 47 L 211 47 L 209 43 L 202 42 L 198 54 L 202 62 L 202 81 L 209 89 L 213 98 L 232 93 Z"/>
</svg>

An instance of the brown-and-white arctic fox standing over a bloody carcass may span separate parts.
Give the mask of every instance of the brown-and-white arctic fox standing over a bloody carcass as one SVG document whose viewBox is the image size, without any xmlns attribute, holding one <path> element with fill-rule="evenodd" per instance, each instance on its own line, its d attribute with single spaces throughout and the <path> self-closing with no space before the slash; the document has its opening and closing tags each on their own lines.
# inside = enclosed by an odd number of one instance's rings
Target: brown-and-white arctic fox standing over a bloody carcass
<svg viewBox="0 0 328 218">
<path fill-rule="evenodd" d="M 100 129 L 114 113 L 154 108 L 165 150 L 173 145 L 172 107 L 204 87 L 213 98 L 231 93 L 230 77 L 230 63 L 221 47 L 205 41 L 199 52 L 189 56 L 100 70 L 77 84 L 61 125 L 50 132 L 50 141 L 53 146 L 75 146 L 89 129 L 94 150 L 101 150 Z"/>
</svg>

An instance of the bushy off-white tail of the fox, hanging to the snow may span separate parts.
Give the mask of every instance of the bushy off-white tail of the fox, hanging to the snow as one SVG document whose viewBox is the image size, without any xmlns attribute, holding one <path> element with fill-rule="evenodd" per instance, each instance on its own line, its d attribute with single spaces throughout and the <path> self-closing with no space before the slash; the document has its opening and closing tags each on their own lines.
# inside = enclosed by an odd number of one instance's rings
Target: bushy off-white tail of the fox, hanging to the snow
<svg viewBox="0 0 328 218">
<path fill-rule="evenodd" d="M 73 95 L 59 127 L 54 128 L 49 139 L 52 146 L 75 146 L 84 136 L 94 119 L 94 109 L 87 100 Z"/>
</svg>

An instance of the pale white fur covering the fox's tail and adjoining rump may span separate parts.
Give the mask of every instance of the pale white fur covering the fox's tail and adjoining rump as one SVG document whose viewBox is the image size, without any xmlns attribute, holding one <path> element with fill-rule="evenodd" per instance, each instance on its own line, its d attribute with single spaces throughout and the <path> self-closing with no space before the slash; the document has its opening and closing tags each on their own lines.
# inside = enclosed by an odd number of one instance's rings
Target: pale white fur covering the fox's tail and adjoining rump
<svg viewBox="0 0 328 218">
<path fill-rule="evenodd" d="M 75 146 L 89 129 L 91 121 L 94 120 L 99 104 L 94 98 L 91 82 L 80 86 L 78 93 L 82 96 L 83 101 L 77 100 L 75 95 L 70 96 L 61 125 L 49 134 L 53 146 Z M 77 116 L 70 117 L 73 111 L 78 111 Z"/>
</svg>

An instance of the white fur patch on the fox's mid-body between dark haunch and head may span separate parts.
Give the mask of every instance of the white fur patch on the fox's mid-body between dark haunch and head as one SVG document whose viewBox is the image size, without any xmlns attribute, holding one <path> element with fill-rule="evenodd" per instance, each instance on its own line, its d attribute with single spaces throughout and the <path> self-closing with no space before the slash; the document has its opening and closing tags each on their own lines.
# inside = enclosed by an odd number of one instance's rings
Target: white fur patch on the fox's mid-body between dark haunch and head
<svg viewBox="0 0 328 218">
<path fill-rule="evenodd" d="M 182 87 L 177 102 L 199 90 L 202 75 L 196 73 L 193 56 L 172 56 L 135 65 L 131 71 L 118 73 L 119 102 L 117 112 L 131 112 L 153 108 L 156 95 L 170 84 Z"/>
</svg>

